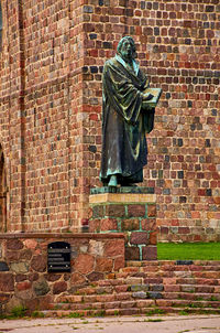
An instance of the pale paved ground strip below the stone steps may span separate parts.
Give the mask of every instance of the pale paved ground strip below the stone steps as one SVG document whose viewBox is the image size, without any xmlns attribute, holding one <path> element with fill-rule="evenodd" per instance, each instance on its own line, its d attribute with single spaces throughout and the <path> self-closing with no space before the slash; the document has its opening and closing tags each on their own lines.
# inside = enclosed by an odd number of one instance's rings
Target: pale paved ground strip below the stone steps
<svg viewBox="0 0 220 333">
<path fill-rule="evenodd" d="M 220 315 L 1 320 L 0 333 L 220 333 Z"/>
</svg>

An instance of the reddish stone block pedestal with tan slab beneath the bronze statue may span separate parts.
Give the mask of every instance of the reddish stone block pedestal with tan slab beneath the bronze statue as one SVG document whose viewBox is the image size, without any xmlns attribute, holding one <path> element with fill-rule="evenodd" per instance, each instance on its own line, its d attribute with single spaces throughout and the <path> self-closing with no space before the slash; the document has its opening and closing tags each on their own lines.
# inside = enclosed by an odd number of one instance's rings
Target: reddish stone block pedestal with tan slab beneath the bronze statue
<svg viewBox="0 0 220 333">
<path fill-rule="evenodd" d="M 125 260 L 157 259 L 154 189 L 92 189 L 89 204 L 91 208 L 90 233 L 123 233 Z"/>
</svg>

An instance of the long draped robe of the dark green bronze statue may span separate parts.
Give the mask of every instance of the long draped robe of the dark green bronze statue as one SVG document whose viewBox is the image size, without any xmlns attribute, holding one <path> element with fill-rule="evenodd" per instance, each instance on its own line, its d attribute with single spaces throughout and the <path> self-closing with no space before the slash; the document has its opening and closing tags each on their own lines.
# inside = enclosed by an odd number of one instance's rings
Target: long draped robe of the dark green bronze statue
<svg viewBox="0 0 220 333">
<path fill-rule="evenodd" d="M 102 75 L 102 154 L 100 180 L 118 174 L 132 182 L 143 181 L 147 163 L 145 132 L 153 129 L 154 109 L 143 110 L 146 76 L 136 73 L 119 56 L 106 62 Z"/>
</svg>

